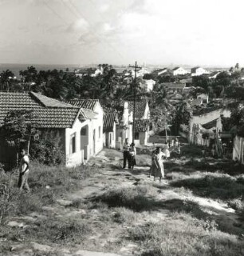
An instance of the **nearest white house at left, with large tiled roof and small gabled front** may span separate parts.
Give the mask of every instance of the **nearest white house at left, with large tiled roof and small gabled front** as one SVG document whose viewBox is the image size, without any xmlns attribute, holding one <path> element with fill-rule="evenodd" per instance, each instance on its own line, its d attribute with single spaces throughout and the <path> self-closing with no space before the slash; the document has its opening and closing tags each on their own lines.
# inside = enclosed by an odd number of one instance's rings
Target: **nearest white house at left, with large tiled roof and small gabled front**
<svg viewBox="0 0 244 256">
<path fill-rule="evenodd" d="M 0 92 L 0 162 L 13 162 L 16 159 L 17 152 L 7 146 L 1 137 L 3 120 L 13 110 L 32 110 L 33 122 L 41 134 L 49 133 L 61 138 L 60 146 L 65 154 L 66 166 L 80 165 L 94 154 L 92 120 L 95 113 L 92 111 L 33 92 Z M 91 149 L 90 154 L 87 149 Z"/>
</svg>

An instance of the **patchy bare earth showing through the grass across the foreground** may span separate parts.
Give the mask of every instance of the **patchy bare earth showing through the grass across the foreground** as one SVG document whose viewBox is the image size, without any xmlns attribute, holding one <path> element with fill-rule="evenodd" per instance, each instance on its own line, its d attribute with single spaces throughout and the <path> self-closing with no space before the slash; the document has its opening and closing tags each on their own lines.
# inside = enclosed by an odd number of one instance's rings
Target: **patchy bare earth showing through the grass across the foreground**
<svg viewBox="0 0 244 256">
<path fill-rule="evenodd" d="M 33 212 L 29 216 L 17 216 L 8 219 L 8 226 L 22 234 L 25 230 L 38 229 L 41 221 L 57 219 L 81 220 L 90 230 L 79 242 L 43 242 L 34 238 L 33 241 L 22 236 L 20 241 L 5 241 L 0 238 L 6 248 L 1 255 L 84 255 L 84 256 L 116 256 L 142 254 L 140 242 L 130 241 L 127 231 L 132 227 L 144 226 L 148 223 L 171 223 L 175 212 L 182 207 L 197 207 L 197 214 L 211 217 L 218 223 L 216 236 L 228 238 L 231 242 L 242 242 L 244 226 L 235 210 L 225 202 L 212 198 L 203 198 L 191 191 L 171 186 L 169 179 L 163 182 L 153 181 L 148 177 L 149 167 L 136 166 L 135 170 L 122 170 L 122 154 L 116 150 L 103 150 L 89 165 L 96 165 L 97 172 L 82 182 L 82 189 L 72 194 L 65 194 L 51 206 L 42 207 L 41 212 Z M 169 171 L 169 170 L 166 170 Z M 136 186 L 146 188 L 145 198 L 151 203 L 152 209 L 133 210 L 133 207 L 118 209 L 101 202 L 105 192 L 121 188 L 133 189 Z M 188 204 L 190 202 L 190 204 Z M 186 209 L 188 209 L 186 208 Z M 132 213 L 130 211 L 133 210 Z M 124 221 L 117 221 L 117 215 L 127 216 Z M 136 217 L 135 217 L 136 216 Z M 199 216 L 196 216 L 199 217 Z M 21 236 L 20 236 L 21 237 Z M 244 248 L 244 247 L 243 247 Z M 148 248 L 150 249 L 150 248 Z M 244 251 L 243 251 L 244 254 Z M 149 254 L 148 254 L 149 255 Z M 240 254 L 241 255 L 241 254 Z"/>
</svg>

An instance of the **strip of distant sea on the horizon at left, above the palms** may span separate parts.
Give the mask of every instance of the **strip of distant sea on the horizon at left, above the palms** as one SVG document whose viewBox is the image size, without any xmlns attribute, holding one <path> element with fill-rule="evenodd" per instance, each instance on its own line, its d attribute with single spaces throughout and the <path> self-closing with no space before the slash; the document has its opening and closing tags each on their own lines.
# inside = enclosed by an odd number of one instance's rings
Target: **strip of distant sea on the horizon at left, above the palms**
<svg viewBox="0 0 244 256">
<path fill-rule="evenodd" d="M 2 73 L 3 70 L 11 70 L 14 75 L 19 78 L 19 71 L 20 70 L 27 70 L 28 66 L 34 66 L 37 71 L 40 70 L 66 70 L 66 68 L 69 68 L 69 71 L 73 71 L 75 69 L 79 69 L 84 66 L 79 65 L 43 65 L 43 64 L 0 64 L 0 73 Z"/>
</svg>

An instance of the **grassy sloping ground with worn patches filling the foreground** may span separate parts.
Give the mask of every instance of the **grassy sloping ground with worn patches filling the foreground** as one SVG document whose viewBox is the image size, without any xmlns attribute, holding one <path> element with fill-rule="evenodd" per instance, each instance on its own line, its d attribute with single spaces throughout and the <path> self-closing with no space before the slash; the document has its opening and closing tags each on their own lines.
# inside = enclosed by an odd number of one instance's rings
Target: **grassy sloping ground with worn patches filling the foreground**
<svg viewBox="0 0 244 256">
<path fill-rule="evenodd" d="M 214 206 L 227 203 L 242 216 L 244 182 L 238 167 L 230 175 L 229 162 L 212 165 L 211 159 L 203 161 L 197 154 L 191 160 L 172 159 L 165 162 L 168 184 L 164 184 L 147 178 L 148 155 L 137 157 L 139 168 L 133 172 L 118 168 L 120 152 L 105 150 L 103 156 L 95 161 L 99 170 L 35 164 L 31 194 L 19 195 L 14 189 L 17 177 L 3 175 L 1 181 L 10 187 L 10 197 L 1 201 L 6 212 L 2 213 L 0 252 L 7 255 L 13 244 L 24 241 L 69 250 L 79 247 L 120 254 L 135 250 L 144 256 L 244 253 L 238 215 L 228 212 L 230 208 Z M 73 202 L 57 204 L 57 198 L 70 199 L 76 190 L 81 193 L 72 197 Z M 201 204 L 199 198 L 212 200 L 213 207 Z M 7 226 L 10 220 L 29 226 Z M 61 252 L 49 255 L 54 254 Z"/>
</svg>

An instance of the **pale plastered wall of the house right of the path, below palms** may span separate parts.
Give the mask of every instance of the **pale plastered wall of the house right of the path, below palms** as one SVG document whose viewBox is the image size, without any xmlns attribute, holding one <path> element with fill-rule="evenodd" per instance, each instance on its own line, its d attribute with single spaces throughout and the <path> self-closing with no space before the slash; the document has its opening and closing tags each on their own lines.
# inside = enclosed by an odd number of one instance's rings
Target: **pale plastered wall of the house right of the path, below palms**
<svg viewBox="0 0 244 256">
<path fill-rule="evenodd" d="M 223 115 L 225 118 L 230 118 L 230 110 L 214 110 L 211 111 L 207 114 L 202 114 L 202 115 L 197 115 L 197 116 L 193 116 L 190 121 L 189 121 L 189 142 L 193 142 L 193 134 L 192 134 L 192 127 L 194 124 L 200 124 L 200 125 L 204 125 L 207 122 L 211 122 L 214 119 L 219 118 L 218 122 L 217 122 L 217 128 L 218 131 L 222 130 L 222 124 L 221 124 L 221 119 L 220 116 Z"/>
</svg>

